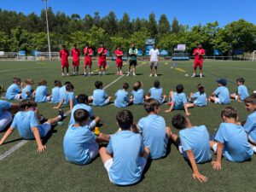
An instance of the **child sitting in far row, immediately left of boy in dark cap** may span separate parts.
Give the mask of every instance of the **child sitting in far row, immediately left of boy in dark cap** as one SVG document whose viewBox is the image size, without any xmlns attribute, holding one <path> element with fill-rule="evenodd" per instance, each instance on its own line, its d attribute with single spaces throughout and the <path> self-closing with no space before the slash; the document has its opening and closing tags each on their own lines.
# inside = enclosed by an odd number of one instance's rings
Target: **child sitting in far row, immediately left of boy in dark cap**
<svg viewBox="0 0 256 192">
<path fill-rule="evenodd" d="M 207 94 L 203 85 L 197 85 L 197 92 L 190 93 L 188 108 L 205 107 L 207 106 Z"/>
</svg>

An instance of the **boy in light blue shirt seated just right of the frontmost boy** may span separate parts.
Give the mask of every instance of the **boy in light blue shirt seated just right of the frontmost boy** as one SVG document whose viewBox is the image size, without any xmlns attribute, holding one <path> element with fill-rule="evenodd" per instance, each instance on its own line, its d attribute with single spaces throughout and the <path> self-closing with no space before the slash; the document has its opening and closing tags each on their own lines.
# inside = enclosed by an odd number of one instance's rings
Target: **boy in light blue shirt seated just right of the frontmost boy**
<svg viewBox="0 0 256 192">
<path fill-rule="evenodd" d="M 145 101 L 144 108 L 148 116 L 139 120 L 138 127 L 143 135 L 143 144 L 150 150 L 150 158 L 157 160 L 166 155 L 171 129 L 166 126 L 165 119 L 159 115 L 159 102 L 150 98 Z"/>
</svg>

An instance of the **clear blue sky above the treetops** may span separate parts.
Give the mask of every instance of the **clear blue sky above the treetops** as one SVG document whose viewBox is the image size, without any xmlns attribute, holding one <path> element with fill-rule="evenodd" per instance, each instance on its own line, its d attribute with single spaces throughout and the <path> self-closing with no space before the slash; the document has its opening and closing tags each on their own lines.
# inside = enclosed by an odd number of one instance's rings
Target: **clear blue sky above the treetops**
<svg viewBox="0 0 256 192">
<path fill-rule="evenodd" d="M 0 8 L 15 10 L 26 15 L 40 14 L 44 8 L 42 0 L 0 0 Z M 166 14 L 169 20 L 174 16 L 181 24 L 194 26 L 218 20 L 220 26 L 230 21 L 245 19 L 256 24 L 256 0 L 49 0 L 54 12 L 61 11 L 67 15 L 73 13 L 84 17 L 99 11 L 101 16 L 113 10 L 118 18 L 126 12 L 133 18 L 148 18 L 152 12 L 159 19 Z"/>
</svg>

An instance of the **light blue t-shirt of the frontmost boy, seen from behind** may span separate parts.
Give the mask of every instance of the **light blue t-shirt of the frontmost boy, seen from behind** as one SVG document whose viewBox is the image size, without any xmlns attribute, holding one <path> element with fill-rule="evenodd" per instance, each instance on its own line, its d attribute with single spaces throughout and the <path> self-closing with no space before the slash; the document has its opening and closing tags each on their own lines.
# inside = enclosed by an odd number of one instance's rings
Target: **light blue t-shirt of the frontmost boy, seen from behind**
<svg viewBox="0 0 256 192">
<path fill-rule="evenodd" d="M 119 131 L 110 137 L 108 154 L 113 154 L 113 165 L 109 177 L 113 183 L 128 185 L 139 182 L 143 167 L 139 164 L 143 153 L 143 139 L 131 131 Z"/>
</svg>

